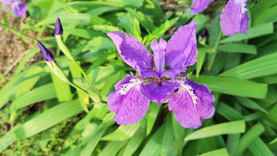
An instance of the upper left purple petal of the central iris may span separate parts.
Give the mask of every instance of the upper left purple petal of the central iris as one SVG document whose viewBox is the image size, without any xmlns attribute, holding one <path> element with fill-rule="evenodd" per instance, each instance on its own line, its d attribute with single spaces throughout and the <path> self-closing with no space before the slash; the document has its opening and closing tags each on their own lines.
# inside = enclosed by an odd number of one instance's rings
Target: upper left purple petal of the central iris
<svg viewBox="0 0 277 156">
<path fill-rule="evenodd" d="M 153 59 L 146 47 L 135 37 L 113 31 L 107 34 L 115 44 L 122 60 L 134 68 L 138 73 L 153 67 Z"/>
</svg>

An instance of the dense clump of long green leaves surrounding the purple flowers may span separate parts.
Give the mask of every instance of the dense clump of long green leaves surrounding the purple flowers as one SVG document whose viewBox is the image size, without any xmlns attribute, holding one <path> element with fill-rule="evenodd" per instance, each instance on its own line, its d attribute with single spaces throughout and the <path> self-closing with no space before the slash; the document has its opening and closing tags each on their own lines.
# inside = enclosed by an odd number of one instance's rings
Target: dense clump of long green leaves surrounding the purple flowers
<svg viewBox="0 0 277 156">
<path fill-rule="evenodd" d="M 25 68 L 39 52 L 34 46 L 0 90 L 0 151 L 4 155 L 276 155 L 277 18 L 276 1 L 249 2 L 246 35 L 223 36 L 219 16 L 225 1 L 208 14 L 193 15 L 184 1 L 32 0 L 20 30 L 0 26 L 26 40 L 35 38 L 55 51 L 57 63 L 79 85 L 82 74 L 62 55 L 53 35 L 60 17 L 63 40 L 100 90 L 95 104 L 50 72 L 45 62 Z M 163 5 L 161 7 L 159 4 Z M 177 6 L 177 7 L 170 7 Z M 133 70 L 118 55 L 107 32 L 120 30 L 149 48 L 160 37 L 197 21 L 197 63 L 188 77 L 207 84 L 216 97 L 213 118 L 199 129 L 180 126 L 167 105 L 151 103 L 143 120 L 117 125 L 107 95 Z M 86 104 L 89 112 L 84 112 Z"/>
</svg>

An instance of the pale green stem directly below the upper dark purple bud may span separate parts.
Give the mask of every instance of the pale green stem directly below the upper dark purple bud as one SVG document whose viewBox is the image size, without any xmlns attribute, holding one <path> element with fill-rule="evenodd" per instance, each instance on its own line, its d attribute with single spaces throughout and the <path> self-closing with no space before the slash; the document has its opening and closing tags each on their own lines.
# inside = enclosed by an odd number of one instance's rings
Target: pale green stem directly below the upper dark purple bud
<svg viewBox="0 0 277 156">
<path fill-rule="evenodd" d="M 66 47 L 65 43 L 62 40 L 61 35 L 55 35 L 58 47 L 62 50 L 62 52 L 68 57 L 69 60 L 71 60 L 77 67 L 77 69 L 84 75 L 85 79 L 87 80 L 89 85 L 92 85 L 92 82 L 90 81 L 88 75 L 86 72 L 82 69 L 82 67 L 74 60 L 73 55 L 69 51 L 69 49 Z"/>
</svg>

